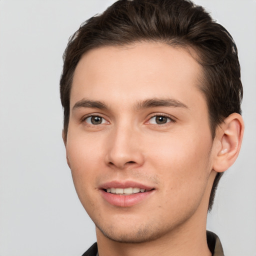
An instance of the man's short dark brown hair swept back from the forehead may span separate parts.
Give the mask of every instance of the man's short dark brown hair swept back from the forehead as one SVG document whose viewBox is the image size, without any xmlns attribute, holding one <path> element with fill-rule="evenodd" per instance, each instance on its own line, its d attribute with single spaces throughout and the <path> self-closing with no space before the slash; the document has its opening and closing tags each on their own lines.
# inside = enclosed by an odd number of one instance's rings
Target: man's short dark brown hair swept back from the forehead
<svg viewBox="0 0 256 256">
<path fill-rule="evenodd" d="M 188 0 L 118 0 L 102 14 L 81 24 L 63 54 L 60 98 L 64 136 L 69 121 L 72 77 L 81 56 L 92 48 L 140 41 L 192 48 L 203 67 L 200 90 L 205 96 L 212 138 L 225 117 L 241 113 L 242 85 L 237 49 L 227 30 L 201 7 Z M 209 209 L 222 173 L 213 182 Z"/>
</svg>

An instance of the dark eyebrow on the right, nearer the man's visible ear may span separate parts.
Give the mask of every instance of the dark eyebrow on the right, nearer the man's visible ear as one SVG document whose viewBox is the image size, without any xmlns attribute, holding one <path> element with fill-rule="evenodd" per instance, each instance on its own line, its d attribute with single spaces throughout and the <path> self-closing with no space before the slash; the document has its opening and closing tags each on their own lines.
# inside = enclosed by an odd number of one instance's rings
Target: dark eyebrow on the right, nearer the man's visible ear
<svg viewBox="0 0 256 256">
<path fill-rule="evenodd" d="M 150 107 L 157 107 L 157 106 L 171 106 L 171 107 L 184 107 L 188 108 L 187 105 L 180 102 L 179 100 L 172 99 L 172 98 L 152 98 L 146 99 L 141 102 L 137 102 L 136 109 L 143 109 L 143 108 L 150 108 Z"/>
</svg>

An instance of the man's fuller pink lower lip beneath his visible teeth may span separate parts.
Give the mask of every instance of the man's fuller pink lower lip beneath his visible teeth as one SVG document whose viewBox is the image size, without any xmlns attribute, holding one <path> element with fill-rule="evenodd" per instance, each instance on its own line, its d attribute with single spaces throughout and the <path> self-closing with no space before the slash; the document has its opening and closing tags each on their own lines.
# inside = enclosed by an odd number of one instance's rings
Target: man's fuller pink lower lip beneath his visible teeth
<svg viewBox="0 0 256 256">
<path fill-rule="evenodd" d="M 129 207 L 135 205 L 137 203 L 142 202 L 146 199 L 154 190 L 150 190 L 147 192 L 139 192 L 129 195 L 123 194 L 112 194 L 108 193 L 105 190 L 100 190 L 102 197 L 110 204 L 120 207 Z"/>
</svg>

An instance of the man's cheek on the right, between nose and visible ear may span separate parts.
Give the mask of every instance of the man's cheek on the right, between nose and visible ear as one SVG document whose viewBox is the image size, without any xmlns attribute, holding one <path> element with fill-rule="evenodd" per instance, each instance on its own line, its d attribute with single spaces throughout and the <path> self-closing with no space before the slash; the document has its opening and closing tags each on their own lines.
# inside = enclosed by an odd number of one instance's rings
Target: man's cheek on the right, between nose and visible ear
<svg viewBox="0 0 256 256">
<path fill-rule="evenodd" d="M 172 137 L 152 148 L 148 158 L 164 183 L 166 194 L 190 200 L 195 193 L 201 193 L 205 189 L 211 170 L 209 138 L 202 143 L 197 136 L 183 136 L 182 139 Z M 152 159 L 155 159 L 154 162 Z"/>
</svg>

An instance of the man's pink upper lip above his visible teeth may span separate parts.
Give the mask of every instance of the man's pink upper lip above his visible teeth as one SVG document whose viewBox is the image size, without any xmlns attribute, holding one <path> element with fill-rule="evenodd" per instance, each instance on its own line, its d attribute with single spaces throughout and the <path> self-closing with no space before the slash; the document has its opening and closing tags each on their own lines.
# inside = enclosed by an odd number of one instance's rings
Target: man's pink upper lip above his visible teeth
<svg viewBox="0 0 256 256">
<path fill-rule="evenodd" d="M 108 182 L 102 183 L 99 186 L 99 189 L 107 189 L 107 188 L 110 188 L 110 187 L 114 187 L 114 188 L 138 187 L 138 188 L 144 188 L 145 190 L 151 190 L 151 189 L 154 188 L 153 186 L 142 184 L 142 183 L 137 182 L 137 181 L 131 181 L 131 180 L 117 181 L 117 180 L 112 180 L 112 181 L 108 181 Z"/>
</svg>

